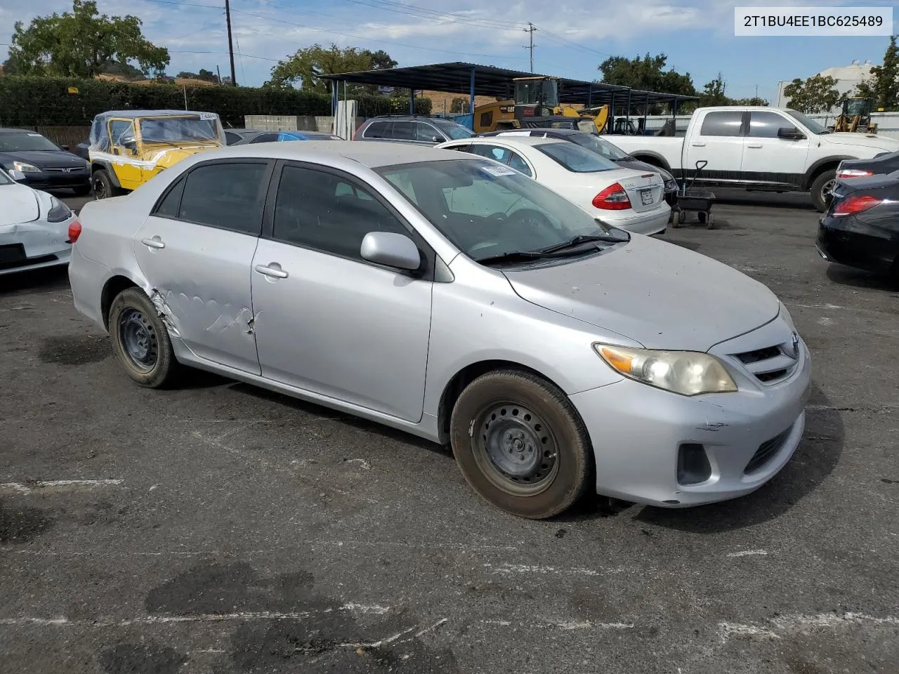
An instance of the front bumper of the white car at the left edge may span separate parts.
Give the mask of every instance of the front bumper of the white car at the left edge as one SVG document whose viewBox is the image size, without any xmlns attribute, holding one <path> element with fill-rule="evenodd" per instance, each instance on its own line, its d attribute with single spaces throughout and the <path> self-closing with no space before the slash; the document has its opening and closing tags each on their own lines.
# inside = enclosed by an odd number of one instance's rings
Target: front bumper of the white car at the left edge
<svg viewBox="0 0 899 674">
<path fill-rule="evenodd" d="M 68 226 L 75 216 L 62 222 L 34 220 L 0 226 L 0 275 L 68 264 L 72 254 L 67 244 Z"/>
</svg>

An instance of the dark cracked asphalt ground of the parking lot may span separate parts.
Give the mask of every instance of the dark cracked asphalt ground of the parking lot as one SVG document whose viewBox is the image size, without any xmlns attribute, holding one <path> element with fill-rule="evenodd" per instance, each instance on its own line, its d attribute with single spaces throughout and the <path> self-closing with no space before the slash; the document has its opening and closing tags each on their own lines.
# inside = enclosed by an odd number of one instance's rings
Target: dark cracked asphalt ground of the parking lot
<svg viewBox="0 0 899 674">
<path fill-rule="evenodd" d="M 133 386 L 65 271 L 0 277 L 0 670 L 895 674 L 899 295 L 828 268 L 806 200 L 763 203 L 664 238 L 788 305 L 806 436 L 690 510 L 506 516 L 402 433 L 209 375 Z"/>
</svg>

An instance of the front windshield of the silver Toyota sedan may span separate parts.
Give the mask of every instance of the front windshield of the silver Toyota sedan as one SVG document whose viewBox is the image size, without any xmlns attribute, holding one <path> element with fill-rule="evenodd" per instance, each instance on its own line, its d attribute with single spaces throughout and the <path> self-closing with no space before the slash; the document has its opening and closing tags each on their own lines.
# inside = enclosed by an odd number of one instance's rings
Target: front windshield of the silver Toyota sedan
<svg viewBox="0 0 899 674">
<path fill-rule="evenodd" d="M 401 164 L 378 173 L 475 260 L 539 251 L 575 236 L 627 237 L 539 182 L 489 160 Z"/>
</svg>

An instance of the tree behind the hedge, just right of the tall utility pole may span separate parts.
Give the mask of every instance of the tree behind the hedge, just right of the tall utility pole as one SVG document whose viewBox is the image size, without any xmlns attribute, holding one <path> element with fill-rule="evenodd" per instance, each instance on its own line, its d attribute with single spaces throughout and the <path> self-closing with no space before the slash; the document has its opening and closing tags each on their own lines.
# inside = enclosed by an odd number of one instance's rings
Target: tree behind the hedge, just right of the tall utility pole
<svg viewBox="0 0 899 674">
<path fill-rule="evenodd" d="M 326 80 L 317 75 L 334 75 L 350 73 L 356 70 L 383 70 L 396 67 L 396 61 L 383 49 L 372 52 L 369 49 L 347 47 L 340 49 L 332 44 L 323 48 L 319 44 L 305 49 L 298 49 L 292 57 L 279 61 L 271 68 L 271 80 L 265 86 L 286 87 L 299 84 L 304 92 L 327 93 Z M 351 85 L 347 93 L 376 93 L 377 86 Z"/>
</svg>

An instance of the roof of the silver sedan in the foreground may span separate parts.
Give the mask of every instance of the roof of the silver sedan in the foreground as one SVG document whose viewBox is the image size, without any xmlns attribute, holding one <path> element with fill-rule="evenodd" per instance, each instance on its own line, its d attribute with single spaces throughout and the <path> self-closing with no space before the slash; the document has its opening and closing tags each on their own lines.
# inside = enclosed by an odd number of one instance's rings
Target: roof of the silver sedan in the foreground
<svg viewBox="0 0 899 674">
<path fill-rule="evenodd" d="M 463 158 L 453 150 L 437 150 L 432 146 L 417 146 L 413 143 L 391 143 L 355 140 L 335 140 L 333 143 L 259 143 L 255 145 L 235 145 L 217 147 L 214 150 L 194 155 L 198 161 L 215 158 L 257 157 L 263 159 L 284 159 L 288 161 L 315 161 L 328 157 L 344 157 L 351 161 L 377 168 L 392 164 L 414 164 L 458 160 Z M 476 157 L 469 157 L 476 158 Z"/>
</svg>

